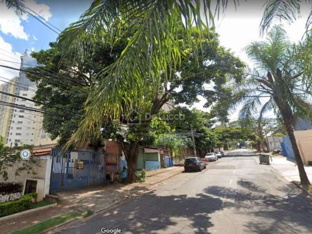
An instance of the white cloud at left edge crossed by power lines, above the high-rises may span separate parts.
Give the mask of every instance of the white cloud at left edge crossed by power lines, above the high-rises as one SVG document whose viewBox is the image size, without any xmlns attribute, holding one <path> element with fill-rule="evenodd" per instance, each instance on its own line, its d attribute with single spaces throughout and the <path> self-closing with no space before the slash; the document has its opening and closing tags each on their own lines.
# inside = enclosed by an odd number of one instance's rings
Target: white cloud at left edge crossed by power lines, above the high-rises
<svg viewBox="0 0 312 234">
<path fill-rule="evenodd" d="M 15 68 L 20 68 L 20 54 L 19 52 L 14 52 L 13 47 L 10 43 L 4 41 L 4 39 L 0 36 L 0 64 Z M 7 61 L 3 61 L 7 60 Z M 1 80 L 8 81 L 3 78 L 11 79 L 15 76 L 19 76 L 19 71 L 0 67 L 0 78 Z M 0 81 L 0 83 L 3 83 Z"/>
</svg>

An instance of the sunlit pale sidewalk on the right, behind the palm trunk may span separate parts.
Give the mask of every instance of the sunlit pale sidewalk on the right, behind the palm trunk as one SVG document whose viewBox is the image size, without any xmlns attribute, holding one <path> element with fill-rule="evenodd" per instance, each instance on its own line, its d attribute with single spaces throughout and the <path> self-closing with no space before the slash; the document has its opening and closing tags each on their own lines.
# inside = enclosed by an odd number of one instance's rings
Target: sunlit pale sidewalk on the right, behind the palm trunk
<svg viewBox="0 0 312 234">
<path fill-rule="evenodd" d="M 272 156 L 270 164 L 279 174 L 281 174 L 289 182 L 300 182 L 298 168 L 295 162 L 288 160 L 284 156 Z M 312 181 L 312 166 L 304 166 L 305 171 Z"/>
</svg>

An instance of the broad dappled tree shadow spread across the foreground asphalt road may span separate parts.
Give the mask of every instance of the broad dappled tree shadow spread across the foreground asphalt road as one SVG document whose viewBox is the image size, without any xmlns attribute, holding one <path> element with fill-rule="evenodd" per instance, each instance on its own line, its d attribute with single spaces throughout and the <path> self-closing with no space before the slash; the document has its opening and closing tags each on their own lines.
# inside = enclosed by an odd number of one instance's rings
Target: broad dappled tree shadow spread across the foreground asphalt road
<svg viewBox="0 0 312 234">
<path fill-rule="evenodd" d="M 69 231 L 70 233 L 76 231 L 94 233 L 99 232 L 100 227 L 121 227 L 123 232 L 136 234 L 168 230 L 179 233 L 181 229 L 185 233 L 208 233 L 208 228 L 214 226 L 210 215 L 226 208 L 236 209 L 235 214 L 245 215 L 243 217 L 248 221 L 243 223 L 245 223 L 244 231 L 247 233 L 312 231 L 310 198 L 298 193 L 289 193 L 284 197 L 272 195 L 267 189 L 247 180 L 240 180 L 237 185 L 239 189 L 210 186 L 195 197 L 163 196 L 150 192 L 123 203 L 122 206 L 109 212 L 97 215 L 97 218 L 79 221 L 74 230 Z M 277 189 L 287 191 L 290 187 Z M 236 215 L 233 220 L 235 219 L 237 219 Z M 225 225 L 231 225 L 230 221 Z"/>
</svg>

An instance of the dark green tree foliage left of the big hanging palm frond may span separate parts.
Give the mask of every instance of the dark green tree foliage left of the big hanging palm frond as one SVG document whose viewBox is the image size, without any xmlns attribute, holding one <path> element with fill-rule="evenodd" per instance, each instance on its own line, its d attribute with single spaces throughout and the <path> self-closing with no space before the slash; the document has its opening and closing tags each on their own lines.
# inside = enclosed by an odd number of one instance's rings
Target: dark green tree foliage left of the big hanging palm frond
<svg viewBox="0 0 312 234">
<path fill-rule="evenodd" d="M 50 49 L 32 53 L 40 65 L 29 68 L 27 77 L 36 81 L 38 87 L 34 99 L 47 103 L 40 106 L 46 112 L 43 114 L 43 128 L 51 139 L 59 139 L 59 145 L 65 144 L 78 129 L 92 84 L 98 82 L 100 71 L 117 59 L 126 41 L 119 40 L 114 48 L 109 43 L 98 44 L 94 53 L 79 64 L 78 60 L 71 59 L 75 57 L 75 50 L 70 56 L 61 58 L 62 51 L 54 42 L 50 43 Z M 100 139 L 92 139 L 88 143 L 97 146 Z"/>
</svg>

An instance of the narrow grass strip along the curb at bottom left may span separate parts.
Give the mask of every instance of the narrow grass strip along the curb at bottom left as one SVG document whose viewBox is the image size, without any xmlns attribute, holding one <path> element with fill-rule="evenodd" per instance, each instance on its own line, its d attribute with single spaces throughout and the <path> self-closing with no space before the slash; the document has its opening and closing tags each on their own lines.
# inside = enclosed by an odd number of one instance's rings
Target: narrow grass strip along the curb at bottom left
<svg viewBox="0 0 312 234">
<path fill-rule="evenodd" d="M 50 218 L 50 219 L 43 221 L 39 224 L 30 226 L 28 228 L 25 228 L 25 229 L 22 229 L 19 231 L 15 231 L 12 234 L 39 234 L 44 230 L 47 230 L 51 227 L 54 227 L 56 225 L 59 225 L 61 223 L 64 223 L 64 222 L 72 219 L 72 218 L 76 218 L 79 216 L 81 216 L 81 214 L 78 212 L 71 212 L 71 213 L 68 213 L 65 215 L 59 215 L 55 218 Z"/>
</svg>

